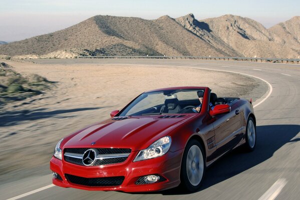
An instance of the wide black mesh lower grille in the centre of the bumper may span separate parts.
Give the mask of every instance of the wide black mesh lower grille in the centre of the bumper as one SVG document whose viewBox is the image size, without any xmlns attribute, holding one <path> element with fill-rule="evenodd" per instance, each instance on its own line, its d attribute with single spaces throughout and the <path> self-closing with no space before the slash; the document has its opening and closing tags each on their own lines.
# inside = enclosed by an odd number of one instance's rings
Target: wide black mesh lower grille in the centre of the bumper
<svg viewBox="0 0 300 200">
<path fill-rule="evenodd" d="M 85 178 L 71 174 L 65 174 L 67 179 L 74 184 L 81 184 L 86 186 L 118 186 L 121 185 L 124 176 L 101 177 L 101 178 Z"/>
</svg>

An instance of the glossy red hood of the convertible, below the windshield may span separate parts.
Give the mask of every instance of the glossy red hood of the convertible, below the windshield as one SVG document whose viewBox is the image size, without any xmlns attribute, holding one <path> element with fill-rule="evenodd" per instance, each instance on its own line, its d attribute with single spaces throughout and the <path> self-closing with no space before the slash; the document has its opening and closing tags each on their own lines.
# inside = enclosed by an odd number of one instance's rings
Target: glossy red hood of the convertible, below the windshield
<svg viewBox="0 0 300 200">
<path fill-rule="evenodd" d="M 63 148 L 112 147 L 140 150 L 147 148 L 193 116 L 194 114 L 114 117 L 67 137 L 67 141 L 63 142 Z"/>
</svg>

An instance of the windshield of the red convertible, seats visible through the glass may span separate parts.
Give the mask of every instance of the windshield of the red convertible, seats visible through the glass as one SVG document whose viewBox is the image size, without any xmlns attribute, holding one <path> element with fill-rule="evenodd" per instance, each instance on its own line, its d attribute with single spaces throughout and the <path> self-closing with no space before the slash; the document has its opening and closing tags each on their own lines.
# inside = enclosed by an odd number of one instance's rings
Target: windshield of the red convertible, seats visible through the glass
<svg viewBox="0 0 300 200">
<path fill-rule="evenodd" d="M 130 103 L 119 116 L 155 115 L 164 113 L 196 113 L 200 105 L 197 93 L 204 90 L 169 90 L 145 92 Z"/>
</svg>

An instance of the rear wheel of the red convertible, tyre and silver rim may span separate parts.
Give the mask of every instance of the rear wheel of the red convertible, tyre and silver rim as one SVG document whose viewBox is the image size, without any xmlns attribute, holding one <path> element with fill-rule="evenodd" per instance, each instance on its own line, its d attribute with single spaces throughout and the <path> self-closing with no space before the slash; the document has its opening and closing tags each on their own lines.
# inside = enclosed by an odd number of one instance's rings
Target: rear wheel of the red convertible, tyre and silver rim
<svg viewBox="0 0 300 200">
<path fill-rule="evenodd" d="M 247 120 L 245 139 L 246 142 L 243 145 L 244 149 L 247 152 L 253 151 L 256 146 L 256 125 L 251 116 L 249 116 Z"/>
</svg>

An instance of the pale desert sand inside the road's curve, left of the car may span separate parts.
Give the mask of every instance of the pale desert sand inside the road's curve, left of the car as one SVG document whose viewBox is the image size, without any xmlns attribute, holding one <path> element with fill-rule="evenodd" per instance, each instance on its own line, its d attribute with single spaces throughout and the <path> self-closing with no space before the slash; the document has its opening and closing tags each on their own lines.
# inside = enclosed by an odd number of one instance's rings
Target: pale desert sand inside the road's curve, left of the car
<svg viewBox="0 0 300 200">
<path fill-rule="evenodd" d="M 0 182 L 8 181 L 7 177 L 17 179 L 26 171 L 28 176 L 50 173 L 49 160 L 61 138 L 109 118 L 112 110 L 121 109 L 143 91 L 209 86 L 218 96 L 246 97 L 259 85 L 257 80 L 243 75 L 203 69 L 0 61 L 23 75 L 37 73 L 57 82 L 43 94 L 0 109 Z"/>
</svg>

